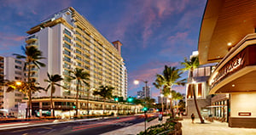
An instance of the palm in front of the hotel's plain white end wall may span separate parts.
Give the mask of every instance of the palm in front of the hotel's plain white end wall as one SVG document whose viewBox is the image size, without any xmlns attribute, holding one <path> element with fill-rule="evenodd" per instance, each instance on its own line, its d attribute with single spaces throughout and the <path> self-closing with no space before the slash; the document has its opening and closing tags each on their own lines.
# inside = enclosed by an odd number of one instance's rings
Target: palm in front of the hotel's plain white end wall
<svg viewBox="0 0 256 135">
<path fill-rule="evenodd" d="M 47 73 L 48 76 L 48 80 L 44 79 L 44 82 L 49 82 L 48 87 L 46 87 L 46 91 L 49 90 L 50 87 L 50 115 L 51 116 L 55 116 L 55 110 L 54 110 L 54 106 L 53 106 L 53 102 L 52 102 L 52 95 L 53 93 L 55 93 L 55 86 L 57 87 L 63 87 L 61 86 L 61 84 L 58 84 L 57 82 L 61 82 L 63 80 L 63 78 L 60 75 L 49 75 L 49 73 Z M 65 88 L 65 87 L 63 87 Z"/>
</svg>

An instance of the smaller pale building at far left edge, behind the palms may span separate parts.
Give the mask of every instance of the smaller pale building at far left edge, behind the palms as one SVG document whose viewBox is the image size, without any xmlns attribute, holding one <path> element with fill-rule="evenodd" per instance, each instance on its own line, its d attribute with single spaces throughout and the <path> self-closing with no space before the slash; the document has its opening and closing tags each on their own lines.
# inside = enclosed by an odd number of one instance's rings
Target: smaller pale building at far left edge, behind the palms
<svg viewBox="0 0 256 135">
<path fill-rule="evenodd" d="M 12 57 L 0 56 L 0 80 L 24 80 L 24 61 Z M 18 105 L 26 96 L 18 91 L 7 93 L 7 87 L 0 86 L 0 113 L 1 115 L 18 115 Z"/>
</svg>

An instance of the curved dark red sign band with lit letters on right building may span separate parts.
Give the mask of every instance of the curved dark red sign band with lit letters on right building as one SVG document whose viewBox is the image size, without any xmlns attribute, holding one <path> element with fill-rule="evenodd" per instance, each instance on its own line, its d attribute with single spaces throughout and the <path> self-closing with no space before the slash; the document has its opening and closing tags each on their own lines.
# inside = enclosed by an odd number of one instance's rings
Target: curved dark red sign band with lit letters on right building
<svg viewBox="0 0 256 135">
<path fill-rule="evenodd" d="M 224 67 L 218 71 L 218 74 L 212 77 L 212 80 L 210 82 L 211 88 L 217 85 L 218 82 L 221 82 L 222 80 L 224 80 L 224 78 L 226 78 L 227 76 L 230 76 L 237 70 L 240 70 L 245 63 L 244 56 L 245 56 L 245 53 L 241 52 L 237 54 L 236 57 L 234 57 L 229 62 L 227 62 L 227 64 L 224 65 Z"/>
</svg>

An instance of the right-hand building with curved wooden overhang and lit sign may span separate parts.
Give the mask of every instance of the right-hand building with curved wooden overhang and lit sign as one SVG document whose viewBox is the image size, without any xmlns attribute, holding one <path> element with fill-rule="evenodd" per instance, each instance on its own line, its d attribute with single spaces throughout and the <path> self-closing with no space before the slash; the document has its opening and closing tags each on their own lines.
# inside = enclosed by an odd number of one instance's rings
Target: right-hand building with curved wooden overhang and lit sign
<svg viewBox="0 0 256 135">
<path fill-rule="evenodd" d="M 208 0 L 201 23 L 201 65 L 218 62 L 210 94 L 224 94 L 229 127 L 256 125 L 256 2 Z M 228 96 L 226 96 L 228 95 Z"/>
</svg>

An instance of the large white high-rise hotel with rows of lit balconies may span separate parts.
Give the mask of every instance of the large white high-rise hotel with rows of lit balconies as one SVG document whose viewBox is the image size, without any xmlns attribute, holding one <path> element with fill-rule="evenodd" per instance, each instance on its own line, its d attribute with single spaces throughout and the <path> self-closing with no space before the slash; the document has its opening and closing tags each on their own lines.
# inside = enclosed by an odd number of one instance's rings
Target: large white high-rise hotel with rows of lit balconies
<svg viewBox="0 0 256 135">
<path fill-rule="evenodd" d="M 82 68 L 90 74 L 90 87 L 82 84 L 79 89 L 79 110 L 81 114 L 102 113 L 102 102 L 96 102 L 102 98 L 93 95 L 93 91 L 100 86 L 114 87 L 113 96 L 127 98 L 127 70 L 124 59 L 121 57 L 122 43 L 119 41 L 108 42 L 96 28 L 90 24 L 74 8 L 65 8 L 60 12 L 50 15 L 39 25 L 32 27 L 26 37 L 26 46 L 36 46 L 43 52 L 42 59 L 46 67 L 33 72 L 33 77 L 40 83 L 41 87 L 47 87 L 47 72 L 50 75 L 61 75 L 63 78 L 69 76 L 69 71 Z M 76 94 L 76 82 L 63 80 L 61 85 L 67 87 L 56 87 L 54 104 L 55 109 L 73 110 L 74 99 L 63 100 L 63 98 L 74 98 Z M 49 92 L 34 93 L 33 106 L 35 111 L 42 115 L 44 110 L 49 110 Z M 44 99 L 42 99 L 44 98 Z M 48 99 L 47 99 L 48 98 Z M 47 101 L 47 102 L 46 102 Z M 107 102 L 108 104 L 108 102 Z M 109 100 L 108 110 L 117 110 L 118 107 Z M 68 107 L 67 107 L 68 106 Z M 120 104 L 120 110 L 131 110 L 131 105 Z M 85 113 L 85 109 L 86 112 Z M 91 109 L 91 110 L 88 110 Z M 110 111 L 107 110 L 107 113 Z M 36 113 L 34 111 L 34 113 Z M 58 114 L 58 113 L 57 113 Z"/>
</svg>

